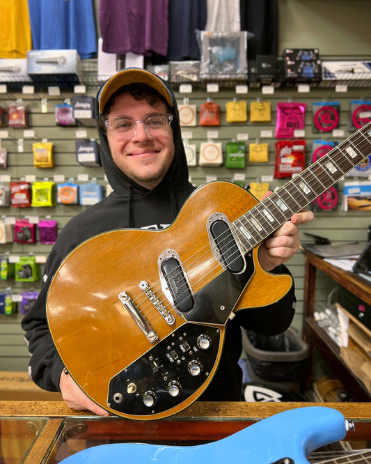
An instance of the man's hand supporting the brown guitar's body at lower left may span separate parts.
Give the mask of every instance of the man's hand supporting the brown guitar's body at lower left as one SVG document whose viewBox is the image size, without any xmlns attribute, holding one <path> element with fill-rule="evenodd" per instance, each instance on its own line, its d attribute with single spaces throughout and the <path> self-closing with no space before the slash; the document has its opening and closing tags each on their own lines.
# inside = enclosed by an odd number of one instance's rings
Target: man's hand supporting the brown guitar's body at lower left
<svg viewBox="0 0 371 464">
<path fill-rule="evenodd" d="M 109 417 L 109 412 L 98 406 L 94 403 L 94 401 L 90 400 L 90 398 L 81 390 L 79 385 L 74 382 L 72 377 L 64 371 L 61 373 L 59 387 L 61 389 L 62 398 L 69 408 L 77 411 L 89 410 L 98 416 Z"/>
</svg>

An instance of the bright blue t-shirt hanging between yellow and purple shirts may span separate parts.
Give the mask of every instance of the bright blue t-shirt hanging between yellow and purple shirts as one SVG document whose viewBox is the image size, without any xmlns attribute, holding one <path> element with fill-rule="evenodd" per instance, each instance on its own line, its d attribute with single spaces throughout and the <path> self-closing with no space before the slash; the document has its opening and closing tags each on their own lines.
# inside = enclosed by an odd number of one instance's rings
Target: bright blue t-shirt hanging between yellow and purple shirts
<svg viewBox="0 0 371 464">
<path fill-rule="evenodd" d="M 33 49 L 75 49 L 97 54 L 93 0 L 29 0 Z"/>
</svg>

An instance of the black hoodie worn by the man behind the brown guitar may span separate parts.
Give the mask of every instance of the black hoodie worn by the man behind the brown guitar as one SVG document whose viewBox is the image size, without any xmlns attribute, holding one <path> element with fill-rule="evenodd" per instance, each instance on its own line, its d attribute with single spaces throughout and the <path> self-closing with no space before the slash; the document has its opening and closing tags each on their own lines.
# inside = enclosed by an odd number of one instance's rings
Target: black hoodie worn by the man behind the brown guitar
<svg viewBox="0 0 371 464">
<path fill-rule="evenodd" d="M 22 328 L 29 348 L 29 376 L 42 389 L 59 391 L 63 363 L 52 341 L 46 315 L 47 291 L 63 258 L 81 242 L 93 235 L 113 229 L 163 229 L 171 224 L 184 201 L 195 190 L 189 183 L 187 160 L 182 144 L 175 96 L 172 123 L 175 157 L 168 173 L 154 190 L 134 183 L 116 164 L 109 151 L 105 134 L 98 128 L 102 165 L 113 192 L 105 199 L 73 217 L 65 225 L 50 252 L 45 265 L 42 288 L 38 299 L 24 317 Z M 99 95 L 99 94 L 98 94 Z M 99 98 L 99 97 L 98 97 Z M 276 272 L 288 272 L 281 266 Z M 200 397 L 203 401 L 238 401 L 241 394 L 242 371 L 241 325 L 262 334 L 278 334 L 290 325 L 294 310 L 294 286 L 285 297 L 269 307 L 238 311 L 227 324 L 223 355 L 210 385 Z"/>
</svg>

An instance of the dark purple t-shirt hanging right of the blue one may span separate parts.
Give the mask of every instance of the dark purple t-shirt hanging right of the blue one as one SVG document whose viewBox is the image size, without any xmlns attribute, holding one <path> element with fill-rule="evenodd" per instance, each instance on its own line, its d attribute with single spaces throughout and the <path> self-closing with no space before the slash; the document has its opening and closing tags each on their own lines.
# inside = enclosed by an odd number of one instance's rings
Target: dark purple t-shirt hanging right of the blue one
<svg viewBox="0 0 371 464">
<path fill-rule="evenodd" d="M 100 0 L 103 52 L 149 56 L 168 52 L 168 0 Z"/>
</svg>

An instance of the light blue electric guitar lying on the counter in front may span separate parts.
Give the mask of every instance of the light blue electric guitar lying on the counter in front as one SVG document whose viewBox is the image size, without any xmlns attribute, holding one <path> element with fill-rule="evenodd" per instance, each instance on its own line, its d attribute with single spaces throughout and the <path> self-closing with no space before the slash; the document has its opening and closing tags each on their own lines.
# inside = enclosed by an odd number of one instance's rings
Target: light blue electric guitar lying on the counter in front
<svg viewBox="0 0 371 464">
<path fill-rule="evenodd" d="M 191 446 L 103 444 L 79 451 L 61 464 L 304 464 L 309 462 L 311 452 L 342 440 L 346 432 L 347 422 L 341 412 L 308 406 L 267 417 L 216 442 Z M 321 462 L 371 464 L 371 450 Z"/>
</svg>

